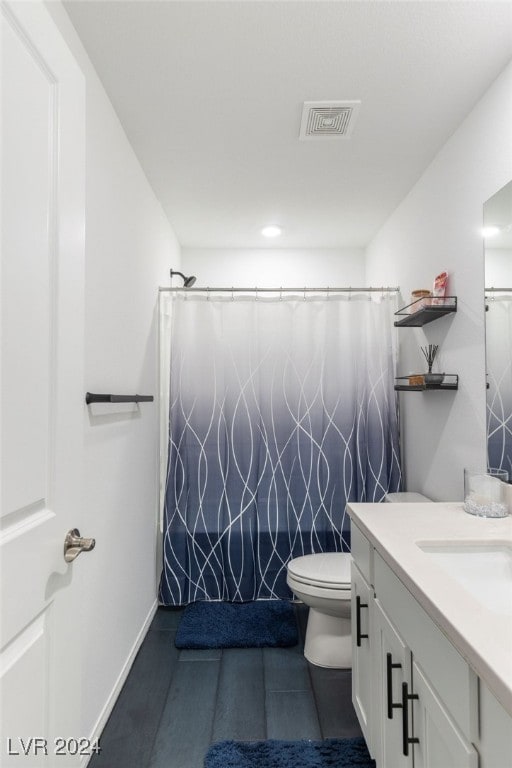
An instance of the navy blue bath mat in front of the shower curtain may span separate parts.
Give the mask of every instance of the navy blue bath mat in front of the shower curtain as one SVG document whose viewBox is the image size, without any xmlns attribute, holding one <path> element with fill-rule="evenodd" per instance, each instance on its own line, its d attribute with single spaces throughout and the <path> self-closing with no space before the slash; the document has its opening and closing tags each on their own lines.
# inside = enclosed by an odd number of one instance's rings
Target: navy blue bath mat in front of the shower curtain
<svg viewBox="0 0 512 768">
<path fill-rule="evenodd" d="M 198 602 L 183 611 L 176 648 L 264 648 L 296 645 L 297 623 L 286 600 Z"/>
</svg>

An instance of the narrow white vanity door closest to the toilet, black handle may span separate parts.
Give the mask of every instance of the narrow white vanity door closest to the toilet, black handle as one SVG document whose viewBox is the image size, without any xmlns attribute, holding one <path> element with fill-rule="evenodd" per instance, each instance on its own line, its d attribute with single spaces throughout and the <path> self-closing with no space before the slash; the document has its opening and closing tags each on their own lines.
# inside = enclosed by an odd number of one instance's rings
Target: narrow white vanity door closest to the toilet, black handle
<svg viewBox="0 0 512 768">
<path fill-rule="evenodd" d="M 370 754 L 372 739 L 372 655 L 370 615 L 373 590 L 352 561 L 352 703 Z"/>
</svg>

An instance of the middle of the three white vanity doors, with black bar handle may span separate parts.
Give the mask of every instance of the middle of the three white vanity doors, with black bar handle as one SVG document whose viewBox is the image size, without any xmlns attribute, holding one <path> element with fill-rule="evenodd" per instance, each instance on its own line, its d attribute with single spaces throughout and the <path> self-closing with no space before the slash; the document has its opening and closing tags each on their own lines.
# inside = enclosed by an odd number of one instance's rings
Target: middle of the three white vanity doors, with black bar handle
<svg viewBox="0 0 512 768">
<path fill-rule="evenodd" d="M 411 651 L 389 620 L 379 600 L 373 610 L 375 670 L 375 759 L 378 768 L 412 768 L 412 744 L 404 749 L 403 685 L 411 681 Z M 406 702 L 411 730 L 411 708 Z M 447 768 L 445 765 L 444 768 Z"/>
</svg>

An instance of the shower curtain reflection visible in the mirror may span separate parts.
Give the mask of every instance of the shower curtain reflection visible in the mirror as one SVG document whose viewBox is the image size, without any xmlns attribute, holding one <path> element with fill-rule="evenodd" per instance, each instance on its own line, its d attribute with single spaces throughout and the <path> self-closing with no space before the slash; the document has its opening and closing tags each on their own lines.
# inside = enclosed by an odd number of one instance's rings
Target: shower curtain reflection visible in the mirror
<svg viewBox="0 0 512 768">
<path fill-rule="evenodd" d="M 512 296 L 492 296 L 487 305 L 487 461 L 512 481 Z"/>
</svg>

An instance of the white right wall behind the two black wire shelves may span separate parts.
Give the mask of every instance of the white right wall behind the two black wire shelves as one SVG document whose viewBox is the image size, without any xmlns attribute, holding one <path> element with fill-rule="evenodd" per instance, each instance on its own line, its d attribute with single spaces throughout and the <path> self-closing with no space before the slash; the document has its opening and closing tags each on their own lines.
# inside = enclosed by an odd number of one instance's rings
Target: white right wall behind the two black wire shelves
<svg viewBox="0 0 512 768">
<path fill-rule="evenodd" d="M 367 249 L 367 282 L 431 287 L 442 270 L 456 315 L 401 329 L 401 372 L 423 372 L 419 346 L 441 345 L 440 367 L 459 390 L 401 394 L 407 487 L 459 500 L 463 468 L 485 466 L 484 260 L 482 206 L 512 178 L 512 64 L 426 169 Z"/>
</svg>

